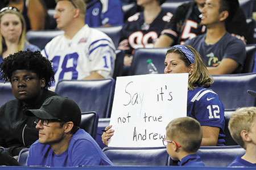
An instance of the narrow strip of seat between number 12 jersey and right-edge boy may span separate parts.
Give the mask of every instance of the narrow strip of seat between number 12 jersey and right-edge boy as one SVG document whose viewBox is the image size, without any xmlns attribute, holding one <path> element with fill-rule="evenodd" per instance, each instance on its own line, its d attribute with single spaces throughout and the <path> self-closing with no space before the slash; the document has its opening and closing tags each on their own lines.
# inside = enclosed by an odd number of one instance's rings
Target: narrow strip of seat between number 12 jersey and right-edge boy
<svg viewBox="0 0 256 170">
<path fill-rule="evenodd" d="M 230 131 L 229 131 L 229 120 L 230 120 L 230 117 L 232 116 L 232 114 L 235 112 L 236 110 L 235 109 L 228 109 L 228 110 L 225 110 L 225 129 L 224 129 L 224 132 L 225 132 L 225 145 L 226 146 L 232 146 L 232 145 L 238 145 L 237 142 L 234 141 L 234 139 L 232 138 L 231 134 L 230 134 Z"/>
</svg>

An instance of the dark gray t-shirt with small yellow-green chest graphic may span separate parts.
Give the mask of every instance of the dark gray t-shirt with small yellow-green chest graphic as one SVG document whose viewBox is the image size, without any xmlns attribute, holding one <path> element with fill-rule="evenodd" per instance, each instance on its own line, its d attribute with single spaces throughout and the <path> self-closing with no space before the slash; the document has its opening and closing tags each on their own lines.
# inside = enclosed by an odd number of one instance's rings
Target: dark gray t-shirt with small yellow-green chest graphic
<svg viewBox="0 0 256 170">
<path fill-rule="evenodd" d="M 223 58 L 231 58 L 239 63 L 239 66 L 233 73 L 241 73 L 246 58 L 243 41 L 226 32 L 218 42 L 208 45 L 204 42 L 205 36 L 206 34 L 204 33 L 185 41 L 185 44 L 193 46 L 199 52 L 207 67 L 217 67 Z"/>
</svg>

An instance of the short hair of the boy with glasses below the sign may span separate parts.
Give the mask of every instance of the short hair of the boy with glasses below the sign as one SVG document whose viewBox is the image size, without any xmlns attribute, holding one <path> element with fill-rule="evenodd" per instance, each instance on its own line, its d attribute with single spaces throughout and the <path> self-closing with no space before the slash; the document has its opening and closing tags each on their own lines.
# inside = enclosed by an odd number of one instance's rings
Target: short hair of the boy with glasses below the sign
<svg viewBox="0 0 256 170">
<path fill-rule="evenodd" d="M 176 139 L 177 143 L 188 153 L 199 150 L 203 138 L 201 126 L 192 117 L 180 117 L 172 120 L 166 127 L 166 135 Z"/>
</svg>

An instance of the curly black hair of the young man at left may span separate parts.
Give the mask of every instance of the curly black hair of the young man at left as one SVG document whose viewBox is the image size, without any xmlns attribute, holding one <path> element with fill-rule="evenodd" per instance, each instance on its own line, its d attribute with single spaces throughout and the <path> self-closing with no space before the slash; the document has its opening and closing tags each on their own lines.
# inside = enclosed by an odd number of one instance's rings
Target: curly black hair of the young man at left
<svg viewBox="0 0 256 170">
<path fill-rule="evenodd" d="M 0 79 L 11 82 L 11 75 L 15 70 L 29 70 L 36 73 L 39 79 L 46 79 L 45 88 L 50 87 L 55 81 L 51 62 L 39 51 L 19 51 L 3 59 L 0 65 L 2 73 Z"/>
</svg>

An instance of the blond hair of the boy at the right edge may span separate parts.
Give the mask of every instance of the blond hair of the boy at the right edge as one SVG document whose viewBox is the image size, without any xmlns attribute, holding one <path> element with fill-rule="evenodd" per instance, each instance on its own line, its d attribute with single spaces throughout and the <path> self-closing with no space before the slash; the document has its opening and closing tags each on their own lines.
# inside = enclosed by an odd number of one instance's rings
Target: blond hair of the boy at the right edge
<svg viewBox="0 0 256 170">
<path fill-rule="evenodd" d="M 246 149 L 245 143 L 241 137 L 241 131 L 251 131 L 256 116 L 256 107 L 246 107 L 237 109 L 229 119 L 229 131 L 234 139 L 241 147 Z"/>
</svg>

